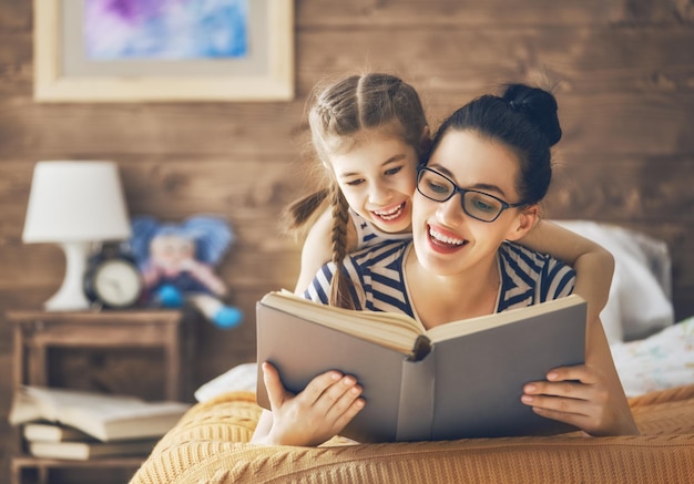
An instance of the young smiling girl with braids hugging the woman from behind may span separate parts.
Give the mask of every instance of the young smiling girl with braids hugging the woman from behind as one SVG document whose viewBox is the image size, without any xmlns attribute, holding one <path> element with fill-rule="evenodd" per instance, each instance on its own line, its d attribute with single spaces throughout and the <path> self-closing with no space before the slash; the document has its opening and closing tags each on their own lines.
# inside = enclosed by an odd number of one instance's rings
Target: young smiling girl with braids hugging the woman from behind
<svg viewBox="0 0 694 484">
<path fill-rule="evenodd" d="M 353 75 L 317 92 L 308 121 L 328 186 L 289 207 L 290 228 L 305 226 L 326 199 L 330 208 L 304 243 L 297 294 L 326 261 L 339 266 L 359 248 L 411 237 L 416 169 L 430 144 L 417 91 L 389 74 Z M 599 316 L 614 269 L 606 250 L 549 222 L 520 244 L 573 266 L 575 292 L 589 302 L 589 316 Z M 348 307 L 340 272 L 330 290 L 333 305 Z"/>
</svg>

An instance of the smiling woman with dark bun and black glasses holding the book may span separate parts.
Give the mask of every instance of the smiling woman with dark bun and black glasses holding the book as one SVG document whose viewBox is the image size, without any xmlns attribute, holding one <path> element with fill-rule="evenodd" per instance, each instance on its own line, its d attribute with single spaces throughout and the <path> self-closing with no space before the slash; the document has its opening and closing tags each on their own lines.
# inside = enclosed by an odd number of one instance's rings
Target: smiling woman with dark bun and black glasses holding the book
<svg viewBox="0 0 694 484">
<path fill-rule="evenodd" d="M 325 266 L 305 297 L 326 303 L 333 276 L 344 272 L 355 308 L 401 311 L 431 328 L 571 294 L 573 269 L 510 241 L 539 217 L 551 179 L 550 147 L 560 137 L 554 97 L 539 89 L 516 84 L 503 97 L 484 95 L 461 107 L 418 168 L 412 240 Z M 254 442 L 318 444 L 366 404 L 358 382 L 338 371 L 293 395 L 272 365 L 263 369 L 273 411 L 263 415 Z M 637 434 L 599 318 L 588 322 L 585 364 L 548 369 L 545 381 L 525 384 L 521 401 L 592 435 Z"/>
</svg>

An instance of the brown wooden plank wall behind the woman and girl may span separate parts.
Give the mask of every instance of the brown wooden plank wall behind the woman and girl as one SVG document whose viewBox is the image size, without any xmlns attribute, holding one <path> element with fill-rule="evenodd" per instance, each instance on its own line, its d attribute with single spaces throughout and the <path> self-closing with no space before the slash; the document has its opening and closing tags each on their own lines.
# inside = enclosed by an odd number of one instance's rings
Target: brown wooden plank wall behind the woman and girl
<svg viewBox="0 0 694 484">
<path fill-rule="evenodd" d="M 32 7 L 0 1 L 0 308 L 38 308 L 62 253 L 23 245 L 37 161 L 119 162 L 132 214 L 228 216 L 238 239 L 220 272 L 243 328 L 200 327 L 197 383 L 254 359 L 254 305 L 293 287 L 298 246 L 278 214 L 304 186 L 305 100 L 360 70 L 418 87 L 437 125 L 506 81 L 551 82 L 564 138 L 549 216 L 611 222 L 665 239 L 677 317 L 694 313 L 694 4 L 682 0 L 296 1 L 296 99 L 276 103 L 37 104 Z M 0 320 L 0 365 L 10 327 Z M 0 372 L 0 414 L 9 408 Z M 9 429 L 0 422 L 0 439 Z M 0 456 L 7 450 L 0 447 Z M 1 476 L 6 476 L 7 459 Z M 1 480 L 2 477 L 0 477 Z"/>
</svg>

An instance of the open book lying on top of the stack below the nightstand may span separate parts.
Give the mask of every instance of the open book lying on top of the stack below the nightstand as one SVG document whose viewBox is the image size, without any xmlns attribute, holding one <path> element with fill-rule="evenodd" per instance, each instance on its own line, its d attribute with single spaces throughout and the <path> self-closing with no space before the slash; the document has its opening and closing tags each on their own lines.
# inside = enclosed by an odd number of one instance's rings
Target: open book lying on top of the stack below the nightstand
<svg viewBox="0 0 694 484">
<path fill-rule="evenodd" d="M 45 420 L 73 426 L 100 441 L 161 437 L 191 405 L 149 402 L 136 397 L 79 390 L 21 387 L 14 394 L 12 425 Z"/>
</svg>

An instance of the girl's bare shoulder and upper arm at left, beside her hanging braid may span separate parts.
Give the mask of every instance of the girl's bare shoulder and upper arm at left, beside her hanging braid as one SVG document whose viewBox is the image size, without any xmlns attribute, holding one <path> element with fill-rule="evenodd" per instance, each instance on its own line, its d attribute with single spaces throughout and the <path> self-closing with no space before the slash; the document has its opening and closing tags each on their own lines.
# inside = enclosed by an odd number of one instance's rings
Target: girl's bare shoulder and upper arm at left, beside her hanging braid
<svg viewBox="0 0 694 484">
<path fill-rule="evenodd" d="M 330 231 L 333 229 L 333 214 L 330 209 L 324 212 L 310 227 L 304 248 L 302 249 L 302 268 L 294 292 L 303 295 L 316 276 L 316 272 L 333 259 L 330 249 Z M 353 253 L 357 247 L 357 231 L 351 218 L 347 225 L 347 254 Z"/>
</svg>

